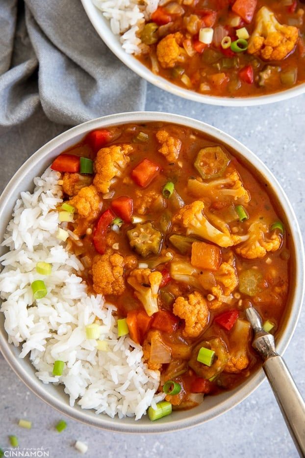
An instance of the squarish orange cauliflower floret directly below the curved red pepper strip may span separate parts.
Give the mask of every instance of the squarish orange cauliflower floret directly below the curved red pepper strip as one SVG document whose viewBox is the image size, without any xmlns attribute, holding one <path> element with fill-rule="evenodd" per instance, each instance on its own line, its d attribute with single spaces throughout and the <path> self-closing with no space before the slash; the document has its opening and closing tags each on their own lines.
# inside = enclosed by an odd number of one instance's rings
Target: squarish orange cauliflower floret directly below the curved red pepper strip
<svg viewBox="0 0 305 458">
<path fill-rule="evenodd" d="M 124 258 L 112 250 L 95 256 L 92 264 L 93 289 L 98 294 L 120 296 L 126 285 L 124 280 Z"/>
</svg>

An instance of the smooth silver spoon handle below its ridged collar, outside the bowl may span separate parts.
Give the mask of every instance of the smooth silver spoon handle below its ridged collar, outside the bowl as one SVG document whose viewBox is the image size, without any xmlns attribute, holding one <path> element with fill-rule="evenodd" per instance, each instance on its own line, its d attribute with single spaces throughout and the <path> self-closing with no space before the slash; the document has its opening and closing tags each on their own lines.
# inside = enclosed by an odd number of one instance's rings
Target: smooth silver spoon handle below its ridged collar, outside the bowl
<svg viewBox="0 0 305 458">
<path fill-rule="evenodd" d="M 279 355 L 266 359 L 263 369 L 300 457 L 305 457 L 305 402 Z"/>
</svg>

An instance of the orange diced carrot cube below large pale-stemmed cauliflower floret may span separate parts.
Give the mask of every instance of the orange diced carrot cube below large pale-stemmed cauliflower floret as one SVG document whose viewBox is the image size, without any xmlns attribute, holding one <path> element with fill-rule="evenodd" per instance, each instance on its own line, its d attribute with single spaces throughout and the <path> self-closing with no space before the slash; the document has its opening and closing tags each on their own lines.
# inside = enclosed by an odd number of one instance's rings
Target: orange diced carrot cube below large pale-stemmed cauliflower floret
<svg viewBox="0 0 305 458">
<path fill-rule="evenodd" d="M 217 270 L 221 263 L 219 246 L 205 242 L 192 243 L 191 264 L 199 269 Z"/>
</svg>

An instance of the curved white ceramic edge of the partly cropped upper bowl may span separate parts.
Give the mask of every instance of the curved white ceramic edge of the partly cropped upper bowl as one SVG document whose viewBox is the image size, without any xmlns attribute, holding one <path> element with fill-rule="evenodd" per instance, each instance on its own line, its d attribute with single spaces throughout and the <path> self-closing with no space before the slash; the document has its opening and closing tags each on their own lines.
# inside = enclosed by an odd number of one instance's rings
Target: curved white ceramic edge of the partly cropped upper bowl
<svg viewBox="0 0 305 458">
<path fill-rule="evenodd" d="M 83 7 L 90 19 L 93 27 L 96 29 L 104 43 L 111 51 L 135 73 L 145 80 L 151 82 L 160 89 L 171 92 L 174 95 L 183 97 L 184 99 L 194 100 L 209 105 L 221 105 L 223 107 L 247 107 L 253 105 L 265 105 L 273 102 L 280 102 L 291 97 L 295 97 L 305 93 L 305 83 L 298 86 L 285 89 L 274 94 L 262 95 L 257 97 L 216 97 L 212 95 L 204 95 L 199 92 L 184 89 L 170 81 L 165 80 L 158 75 L 154 75 L 152 71 L 137 60 L 133 55 L 127 54 L 121 46 L 119 37 L 111 31 L 109 21 L 107 21 L 102 12 L 94 6 L 92 0 L 81 0 Z"/>
</svg>

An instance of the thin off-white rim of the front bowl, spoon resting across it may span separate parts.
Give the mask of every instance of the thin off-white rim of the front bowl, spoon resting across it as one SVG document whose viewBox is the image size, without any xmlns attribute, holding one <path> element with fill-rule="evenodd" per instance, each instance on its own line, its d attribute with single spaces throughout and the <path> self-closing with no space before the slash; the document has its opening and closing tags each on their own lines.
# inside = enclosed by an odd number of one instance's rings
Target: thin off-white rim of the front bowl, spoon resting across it
<svg viewBox="0 0 305 458">
<path fill-rule="evenodd" d="M 282 210 L 285 212 L 286 218 L 290 223 L 290 232 L 293 239 L 293 245 L 295 249 L 295 261 L 296 261 L 296 277 L 300 278 L 300 281 L 297 282 L 294 295 L 291 298 L 291 309 L 290 315 L 287 318 L 285 328 L 282 331 L 279 340 L 277 342 L 277 350 L 282 355 L 286 350 L 290 339 L 293 335 L 293 332 L 296 328 L 305 290 L 304 282 L 304 246 L 302 242 L 302 235 L 300 227 L 294 211 L 291 207 L 291 204 L 281 188 L 280 184 L 273 176 L 272 172 L 267 168 L 267 166 L 257 158 L 254 153 L 252 153 L 246 146 L 240 143 L 238 140 L 234 139 L 228 134 L 225 134 L 220 129 L 210 126 L 202 121 L 198 121 L 186 116 L 163 113 L 163 112 L 154 112 L 154 111 L 136 111 L 136 112 L 127 112 L 120 114 L 112 114 L 108 116 L 102 116 L 97 119 L 87 121 L 83 124 L 80 124 L 76 127 L 73 127 L 66 132 L 56 136 L 51 139 L 48 143 L 39 148 L 32 156 L 30 156 L 27 161 L 18 169 L 18 171 L 13 175 L 5 189 L 3 190 L 0 196 L 0 220 L 5 219 L 5 217 L 10 216 L 10 211 L 5 212 L 6 202 L 12 196 L 14 196 L 14 201 L 17 200 L 18 186 L 20 185 L 22 179 L 29 175 L 31 176 L 31 169 L 35 164 L 39 164 L 41 160 L 50 154 L 55 148 L 60 147 L 66 141 L 71 141 L 76 136 L 85 135 L 88 131 L 99 127 L 106 127 L 111 125 L 119 125 L 128 122 L 150 122 L 150 121 L 163 121 L 169 123 L 175 123 L 183 126 L 187 126 L 196 130 L 199 130 L 207 135 L 211 135 L 217 138 L 219 141 L 228 144 L 230 147 L 235 149 L 242 158 L 245 158 L 246 161 L 249 161 L 253 164 L 254 168 L 257 168 L 262 177 L 264 177 L 268 183 L 272 186 L 272 189 L 277 196 Z M 31 176 L 33 179 L 34 176 Z M 2 238 L 3 234 L 1 234 Z M 301 281 L 302 280 L 302 281 Z M 69 402 L 65 403 L 59 398 L 52 396 L 51 393 L 45 391 L 44 385 L 41 380 L 34 376 L 31 377 L 23 367 L 21 360 L 19 360 L 12 351 L 12 344 L 8 343 L 7 334 L 3 328 L 0 328 L 0 350 L 14 370 L 14 372 L 21 378 L 25 385 L 33 391 L 39 398 L 45 401 L 47 404 L 51 405 L 55 409 L 59 410 L 61 413 L 78 420 L 87 425 L 95 426 L 97 428 L 114 431 L 114 432 L 128 432 L 128 433 L 156 433 L 156 432 L 170 432 L 178 431 L 185 428 L 190 428 L 195 425 L 202 424 L 208 420 L 216 418 L 217 416 L 225 413 L 230 410 L 235 405 L 242 402 L 247 398 L 264 380 L 265 376 L 263 370 L 260 369 L 254 374 L 254 376 L 245 384 L 245 386 L 240 386 L 236 389 L 236 392 L 232 394 L 228 400 L 222 401 L 216 406 L 212 407 L 208 411 L 202 411 L 196 415 L 192 415 L 186 419 L 176 419 L 168 421 L 167 423 L 155 422 L 150 423 L 149 426 L 141 425 L 139 422 L 134 422 L 133 424 L 124 424 L 124 420 L 119 420 L 116 418 L 116 421 L 108 419 L 106 415 L 96 415 L 91 416 L 87 413 L 86 409 L 78 410 L 75 407 L 71 407 Z M 67 396 L 68 399 L 68 396 Z M 112 421 L 111 421 L 112 420 Z"/>
</svg>

